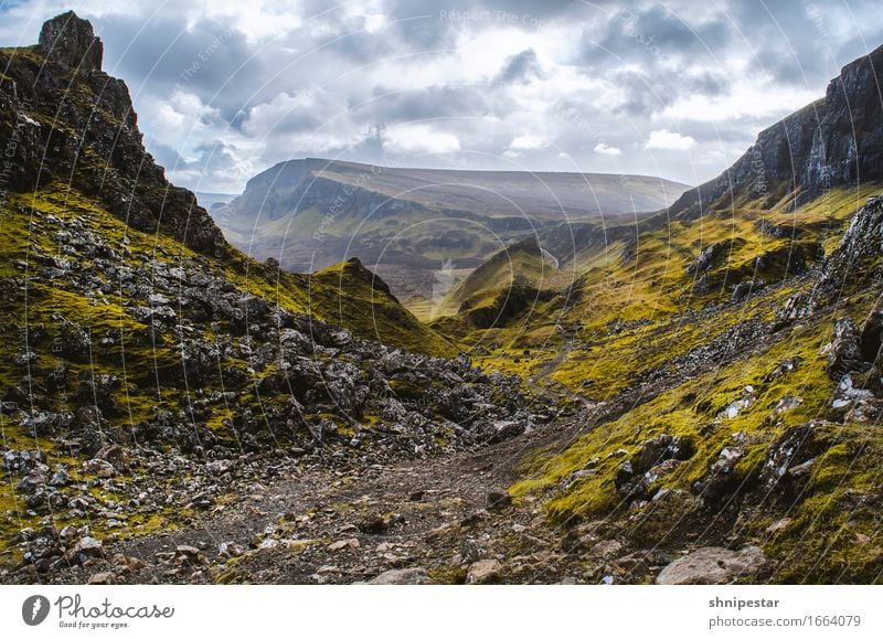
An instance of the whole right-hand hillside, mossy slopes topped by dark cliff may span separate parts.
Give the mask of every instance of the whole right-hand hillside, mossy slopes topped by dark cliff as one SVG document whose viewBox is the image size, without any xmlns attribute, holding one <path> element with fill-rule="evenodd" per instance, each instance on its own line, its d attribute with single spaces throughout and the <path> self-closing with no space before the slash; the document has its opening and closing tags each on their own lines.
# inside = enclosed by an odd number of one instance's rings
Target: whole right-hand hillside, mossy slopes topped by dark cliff
<svg viewBox="0 0 883 639">
<path fill-rule="evenodd" d="M 657 216 L 546 234 L 553 252 L 577 239 L 570 283 L 492 328 L 459 327 L 479 365 L 585 411 L 511 492 L 600 553 L 596 575 L 674 583 L 655 566 L 687 546 L 699 565 L 742 565 L 722 578 L 880 579 L 882 57 L 845 66 Z"/>
</svg>

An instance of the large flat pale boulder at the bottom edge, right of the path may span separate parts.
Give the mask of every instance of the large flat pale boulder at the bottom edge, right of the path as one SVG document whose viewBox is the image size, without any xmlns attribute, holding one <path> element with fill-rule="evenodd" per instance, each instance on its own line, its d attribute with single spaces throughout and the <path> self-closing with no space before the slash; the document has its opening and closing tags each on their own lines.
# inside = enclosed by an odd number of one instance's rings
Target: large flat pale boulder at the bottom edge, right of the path
<svg viewBox="0 0 883 639">
<path fill-rule="evenodd" d="M 667 586 L 732 584 L 756 573 L 764 562 L 764 552 L 757 546 L 740 551 L 706 546 L 671 562 L 659 573 L 656 583 Z"/>
</svg>

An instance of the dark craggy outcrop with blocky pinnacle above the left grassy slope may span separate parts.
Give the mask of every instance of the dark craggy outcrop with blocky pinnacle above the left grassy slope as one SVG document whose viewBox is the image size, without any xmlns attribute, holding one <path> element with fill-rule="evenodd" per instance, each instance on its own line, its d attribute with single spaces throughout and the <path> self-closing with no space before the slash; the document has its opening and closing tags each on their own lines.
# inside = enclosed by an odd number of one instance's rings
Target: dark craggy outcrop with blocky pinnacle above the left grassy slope
<svg viewBox="0 0 883 639">
<path fill-rule="evenodd" d="M 128 88 L 102 71 L 102 54 L 92 25 L 73 12 L 47 21 L 38 46 L 0 53 L 0 192 L 75 183 L 139 231 L 226 255 L 193 193 L 171 185 L 145 150 Z"/>
</svg>

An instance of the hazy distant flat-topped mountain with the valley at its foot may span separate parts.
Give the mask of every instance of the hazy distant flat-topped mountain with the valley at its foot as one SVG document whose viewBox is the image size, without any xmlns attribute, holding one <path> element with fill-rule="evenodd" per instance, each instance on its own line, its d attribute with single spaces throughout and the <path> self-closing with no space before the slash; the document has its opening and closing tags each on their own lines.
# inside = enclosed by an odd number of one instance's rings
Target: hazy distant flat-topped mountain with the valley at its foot
<svg viewBox="0 0 883 639">
<path fill-rule="evenodd" d="M 630 221 L 667 206 L 684 189 L 642 175 L 398 169 L 304 159 L 256 175 L 242 195 L 212 214 L 243 251 L 277 258 L 289 270 L 359 256 L 406 303 L 421 308 L 446 262 L 459 278 L 538 227 Z"/>
</svg>

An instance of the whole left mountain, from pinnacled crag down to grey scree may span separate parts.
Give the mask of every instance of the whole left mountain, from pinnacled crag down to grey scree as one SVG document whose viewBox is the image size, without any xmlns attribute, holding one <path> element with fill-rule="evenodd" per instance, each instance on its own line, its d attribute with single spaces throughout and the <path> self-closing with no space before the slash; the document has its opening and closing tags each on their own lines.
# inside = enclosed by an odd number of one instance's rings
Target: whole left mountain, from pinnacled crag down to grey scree
<svg viewBox="0 0 883 639">
<path fill-rule="evenodd" d="M 292 275 L 228 245 L 100 64 L 72 12 L 0 50 L 0 582 L 84 582 L 103 544 L 281 472 L 539 423 L 518 379 L 440 358 L 458 348 L 358 259 Z"/>
</svg>

